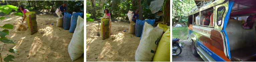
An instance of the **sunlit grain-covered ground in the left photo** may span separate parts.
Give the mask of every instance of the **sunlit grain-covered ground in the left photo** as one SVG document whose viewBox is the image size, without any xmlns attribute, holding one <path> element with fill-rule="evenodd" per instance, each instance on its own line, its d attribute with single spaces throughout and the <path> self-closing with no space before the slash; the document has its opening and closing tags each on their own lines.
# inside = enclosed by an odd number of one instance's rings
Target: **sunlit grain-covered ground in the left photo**
<svg viewBox="0 0 256 62">
<path fill-rule="evenodd" d="M 21 16 L 7 16 L 0 21 L 0 26 L 4 24 L 14 25 L 13 29 L 8 29 L 9 35 L 5 36 L 9 40 L 13 40 L 14 44 L 4 45 L 4 50 L 14 48 L 18 50 L 18 54 L 10 53 L 8 51 L 3 52 L 3 57 L 9 54 L 13 55 L 14 61 L 18 62 L 71 62 L 71 58 L 68 54 L 68 46 L 72 39 L 73 33 L 69 33 L 69 30 L 64 30 L 63 27 L 56 27 L 57 16 L 55 15 L 36 15 L 38 32 L 30 35 L 29 30 L 17 31 L 18 25 L 21 24 Z M 50 25 L 54 23 L 54 25 Z M 27 27 L 27 22 L 23 23 Z M 0 29 L 2 31 L 4 29 Z M 0 43 L 1 45 L 3 43 Z M 74 62 L 83 62 L 84 55 Z"/>
</svg>

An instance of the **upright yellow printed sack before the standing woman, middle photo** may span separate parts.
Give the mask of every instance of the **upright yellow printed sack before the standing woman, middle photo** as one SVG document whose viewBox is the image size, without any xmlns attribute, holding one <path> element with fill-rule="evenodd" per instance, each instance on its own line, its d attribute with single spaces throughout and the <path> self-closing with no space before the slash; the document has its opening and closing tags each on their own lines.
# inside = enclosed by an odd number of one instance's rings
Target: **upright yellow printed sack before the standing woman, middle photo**
<svg viewBox="0 0 256 62">
<path fill-rule="evenodd" d="M 104 40 L 109 36 L 109 19 L 101 19 L 101 38 Z"/>
</svg>

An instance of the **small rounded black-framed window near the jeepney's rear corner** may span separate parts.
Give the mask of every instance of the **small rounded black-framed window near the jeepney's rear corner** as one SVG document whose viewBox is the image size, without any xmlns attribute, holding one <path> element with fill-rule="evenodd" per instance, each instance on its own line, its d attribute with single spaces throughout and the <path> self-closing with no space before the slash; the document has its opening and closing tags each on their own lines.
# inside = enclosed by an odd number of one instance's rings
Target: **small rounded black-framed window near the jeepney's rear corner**
<svg viewBox="0 0 256 62">
<path fill-rule="evenodd" d="M 217 9 L 217 25 L 218 26 L 221 26 L 221 24 L 222 24 L 222 18 L 223 18 L 224 12 L 225 12 L 225 7 L 224 6 L 223 7 L 219 7 Z"/>
</svg>

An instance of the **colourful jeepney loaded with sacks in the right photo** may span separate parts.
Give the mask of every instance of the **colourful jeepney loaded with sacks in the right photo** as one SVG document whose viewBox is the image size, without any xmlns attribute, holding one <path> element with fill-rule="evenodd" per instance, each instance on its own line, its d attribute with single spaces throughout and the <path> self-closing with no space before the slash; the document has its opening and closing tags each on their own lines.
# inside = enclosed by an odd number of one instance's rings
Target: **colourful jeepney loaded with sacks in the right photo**
<svg viewBox="0 0 256 62">
<path fill-rule="evenodd" d="M 248 19 L 256 20 L 256 16 L 248 17 L 256 14 L 256 0 L 195 2 L 187 22 L 187 39 L 193 55 L 204 61 L 256 61 L 256 22 L 251 23 L 250 29 L 241 24 Z M 209 18 L 208 25 L 204 22 Z"/>
</svg>

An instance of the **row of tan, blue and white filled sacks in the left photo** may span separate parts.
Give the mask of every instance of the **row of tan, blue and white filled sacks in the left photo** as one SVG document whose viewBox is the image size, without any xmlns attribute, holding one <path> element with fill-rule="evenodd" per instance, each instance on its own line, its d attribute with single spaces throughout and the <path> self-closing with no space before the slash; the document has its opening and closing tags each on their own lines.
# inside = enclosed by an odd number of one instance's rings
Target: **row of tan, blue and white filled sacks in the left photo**
<svg viewBox="0 0 256 62">
<path fill-rule="evenodd" d="M 56 14 L 58 15 L 59 13 Z M 84 19 L 81 17 L 83 13 L 73 12 L 71 15 L 65 12 L 64 16 L 62 14 L 58 16 L 56 26 L 63 26 L 64 30 L 74 33 L 68 46 L 68 52 L 71 60 L 75 61 L 84 53 Z"/>
</svg>

